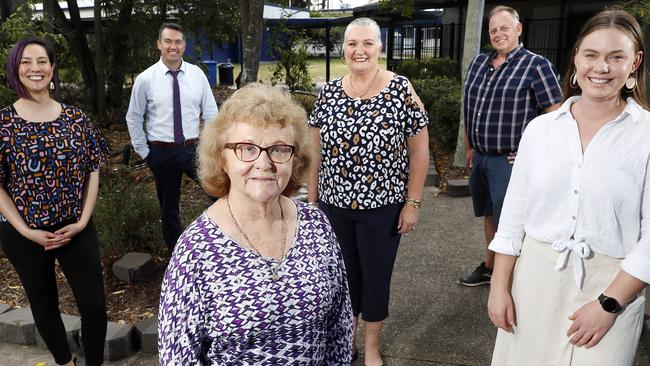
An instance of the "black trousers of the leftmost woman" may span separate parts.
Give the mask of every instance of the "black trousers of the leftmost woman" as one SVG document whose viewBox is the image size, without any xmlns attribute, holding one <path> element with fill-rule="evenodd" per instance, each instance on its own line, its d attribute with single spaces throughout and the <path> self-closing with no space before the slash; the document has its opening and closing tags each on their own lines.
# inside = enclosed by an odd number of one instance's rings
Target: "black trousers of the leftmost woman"
<svg viewBox="0 0 650 366">
<path fill-rule="evenodd" d="M 67 223 L 44 228 L 56 231 Z M 90 220 L 86 228 L 60 248 L 44 248 L 20 235 L 13 226 L 0 226 L 2 250 L 22 282 L 34 322 L 58 364 L 70 362 L 72 354 L 59 311 L 54 260 L 65 275 L 81 314 L 83 349 L 88 365 L 101 365 L 106 338 L 106 299 L 99 257 L 97 231 Z"/>
</svg>

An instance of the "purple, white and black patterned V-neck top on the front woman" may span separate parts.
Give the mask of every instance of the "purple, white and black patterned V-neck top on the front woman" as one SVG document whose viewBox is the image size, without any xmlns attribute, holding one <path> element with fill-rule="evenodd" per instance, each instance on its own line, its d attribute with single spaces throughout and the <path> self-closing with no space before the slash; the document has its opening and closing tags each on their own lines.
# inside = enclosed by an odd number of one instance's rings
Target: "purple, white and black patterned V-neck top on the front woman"
<svg viewBox="0 0 650 366">
<path fill-rule="evenodd" d="M 325 215 L 302 202 L 280 278 L 206 216 L 181 235 L 163 279 L 161 365 L 349 365 L 352 309 Z"/>
</svg>

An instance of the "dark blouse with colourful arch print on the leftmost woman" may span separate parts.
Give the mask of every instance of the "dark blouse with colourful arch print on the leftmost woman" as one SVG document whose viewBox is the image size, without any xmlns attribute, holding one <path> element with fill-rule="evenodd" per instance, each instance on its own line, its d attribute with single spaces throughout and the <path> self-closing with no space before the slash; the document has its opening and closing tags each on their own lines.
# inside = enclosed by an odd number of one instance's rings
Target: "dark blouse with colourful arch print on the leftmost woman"
<svg viewBox="0 0 650 366">
<path fill-rule="evenodd" d="M 13 106 L 0 110 L 0 181 L 31 228 L 79 220 L 86 175 L 109 154 L 79 108 L 61 104 L 49 122 L 25 121 Z"/>
</svg>

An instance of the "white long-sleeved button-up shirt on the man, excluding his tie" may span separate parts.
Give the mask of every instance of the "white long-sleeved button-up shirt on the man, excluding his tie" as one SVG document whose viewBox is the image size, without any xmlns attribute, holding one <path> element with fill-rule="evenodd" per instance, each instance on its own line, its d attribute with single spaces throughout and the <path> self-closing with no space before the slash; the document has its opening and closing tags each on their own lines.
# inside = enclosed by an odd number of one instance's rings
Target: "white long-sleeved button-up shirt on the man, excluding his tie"
<svg viewBox="0 0 650 366">
<path fill-rule="evenodd" d="M 198 66 L 181 63 L 178 83 L 181 98 L 183 135 L 199 137 L 200 117 L 206 122 L 217 116 L 208 78 Z M 126 123 L 133 149 L 143 159 L 149 155 L 147 141 L 174 142 L 173 77 L 162 59 L 135 79 Z M 146 123 L 145 123 L 146 121 Z"/>
</svg>

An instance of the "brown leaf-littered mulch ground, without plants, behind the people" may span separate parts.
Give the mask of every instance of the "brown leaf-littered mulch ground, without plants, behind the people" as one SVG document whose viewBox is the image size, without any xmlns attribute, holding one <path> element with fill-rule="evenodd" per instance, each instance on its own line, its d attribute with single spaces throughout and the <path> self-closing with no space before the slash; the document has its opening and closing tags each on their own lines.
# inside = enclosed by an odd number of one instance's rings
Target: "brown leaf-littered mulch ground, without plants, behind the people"
<svg viewBox="0 0 650 366">
<path fill-rule="evenodd" d="M 230 94 L 232 94 L 231 90 L 217 89 L 215 91 L 217 100 L 225 100 Z M 114 150 L 121 150 L 129 141 L 128 132 L 124 124 L 113 125 L 111 128 L 104 130 L 103 133 Z M 442 192 L 445 192 L 447 179 L 466 177 L 467 170 L 452 166 L 453 152 L 440 150 L 435 145 L 432 145 L 431 149 L 436 162 L 436 169 L 440 176 L 440 189 Z M 134 158 L 137 158 L 137 156 Z M 120 164 L 121 162 L 121 154 L 114 156 L 112 164 Z M 133 173 L 134 179 L 137 180 L 150 179 L 149 174 L 148 169 L 139 169 Z M 155 189 L 153 183 L 151 184 L 151 189 Z M 181 205 L 183 205 L 183 200 L 190 202 L 196 200 L 197 197 L 205 197 L 201 188 L 194 184 L 191 179 L 187 179 L 184 182 L 183 190 Z M 102 258 L 104 291 L 106 293 L 108 319 L 110 321 L 133 324 L 139 320 L 154 316 L 157 313 L 160 298 L 160 284 L 167 266 L 169 253 L 162 243 L 159 246 L 153 246 L 153 248 L 155 252 L 151 254 L 153 256 L 155 270 L 149 280 L 139 284 L 122 283 L 112 274 L 113 263 L 126 253 L 104 253 Z M 83 263 L 79 265 L 83 265 Z M 61 312 L 79 315 L 72 291 L 58 264 L 56 266 L 56 276 L 59 286 Z M 7 304 L 12 307 L 29 306 L 18 275 L 2 250 L 0 250 L 0 279 L 0 304 Z"/>
</svg>

